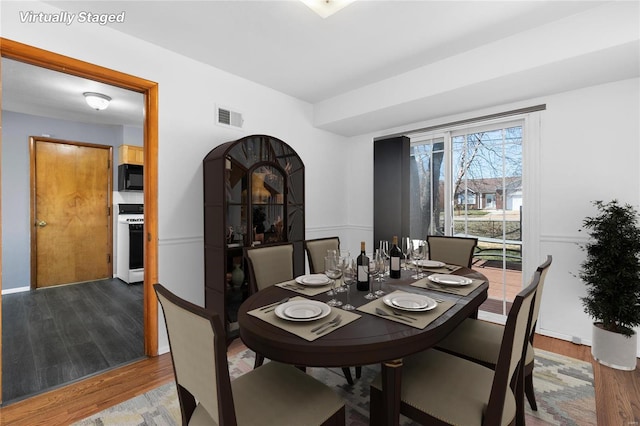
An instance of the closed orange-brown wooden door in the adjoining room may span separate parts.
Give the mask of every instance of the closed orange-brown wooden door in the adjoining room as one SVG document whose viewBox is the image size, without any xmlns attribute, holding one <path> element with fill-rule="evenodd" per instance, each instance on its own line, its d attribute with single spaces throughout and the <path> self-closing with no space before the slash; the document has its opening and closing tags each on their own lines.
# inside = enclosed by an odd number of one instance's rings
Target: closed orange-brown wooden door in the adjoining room
<svg viewBox="0 0 640 426">
<path fill-rule="evenodd" d="M 31 139 L 32 287 L 111 278 L 112 148 Z"/>
</svg>

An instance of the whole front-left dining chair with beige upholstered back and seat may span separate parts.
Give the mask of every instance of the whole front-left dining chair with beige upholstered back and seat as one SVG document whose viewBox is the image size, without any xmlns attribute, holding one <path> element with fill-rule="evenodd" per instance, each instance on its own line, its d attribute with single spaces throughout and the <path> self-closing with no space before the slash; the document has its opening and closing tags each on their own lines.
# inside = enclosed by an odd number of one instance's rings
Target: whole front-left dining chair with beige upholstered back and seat
<svg viewBox="0 0 640 426">
<path fill-rule="evenodd" d="M 231 381 L 220 316 L 154 284 L 183 425 L 344 425 L 344 401 L 299 369 L 269 362 Z"/>
</svg>

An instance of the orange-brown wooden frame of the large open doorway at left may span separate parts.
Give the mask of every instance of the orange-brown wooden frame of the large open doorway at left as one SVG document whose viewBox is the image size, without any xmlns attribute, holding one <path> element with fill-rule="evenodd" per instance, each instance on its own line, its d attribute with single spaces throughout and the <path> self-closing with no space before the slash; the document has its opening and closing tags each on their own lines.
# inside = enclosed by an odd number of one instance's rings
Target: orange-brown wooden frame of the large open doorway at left
<svg viewBox="0 0 640 426">
<path fill-rule="evenodd" d="M 99 81 L 112 86 L 118 86 L 123 89 L 133 90 L 144 95 L 144 227 L 146 233 L 144 246 L 145 274 L 143 284 L 144 351 L 147 356 L 157 356 L 158 301 L 152 286 L 158 282 L 158 83 L 2 37 L 0 37 L 0 56 L 77 77 Z M 0 126 L 1 123 L 2 116 L 0 115 Z M 2 140 L 0 135 L 0 147 L 2 146 L 1 144 Z M 0 190 L 1 188 L 2 181 L 0 180 Z M 2 227 L 0 225 L 0 235 L 1 232 Z M 2 260 L 0 259 L 0 335 L 2 333 L 1 273 Z M 1 339 L 0 353 L 2 353 Z M 0 383 L 2 381 L 1 379 L 2 360 L 0 357 Z M 0 401 L 2 401 L 1 388 Z"/>
</svg>

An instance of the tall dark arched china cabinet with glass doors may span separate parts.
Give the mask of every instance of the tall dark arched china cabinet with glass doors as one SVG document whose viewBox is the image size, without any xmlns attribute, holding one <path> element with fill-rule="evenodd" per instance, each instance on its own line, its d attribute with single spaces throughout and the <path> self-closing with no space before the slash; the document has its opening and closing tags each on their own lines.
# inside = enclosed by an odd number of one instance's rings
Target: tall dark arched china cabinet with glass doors
<svg viewBox="0 0 640 426">
<path fill-rule="evenodd" d="M 251 135 L 212 149 L 203 178 L 205 306 L 233 337 L 248 291 L 244 247 L 291 242 L 294 274 L 304 274 L 304 164 L 282 140 Z"/>
</svg>

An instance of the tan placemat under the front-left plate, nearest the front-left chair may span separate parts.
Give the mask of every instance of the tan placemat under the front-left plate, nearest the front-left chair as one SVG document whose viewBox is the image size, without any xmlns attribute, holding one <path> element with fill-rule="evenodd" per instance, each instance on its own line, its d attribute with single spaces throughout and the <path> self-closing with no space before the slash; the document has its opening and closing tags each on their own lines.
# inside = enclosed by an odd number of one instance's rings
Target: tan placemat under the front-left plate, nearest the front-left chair
<svg viewBox="0 0 640 426">
<path fill-rule="evenodd" d="M 304 297 L 292 297 L 289 299 L 292 300 L 308 300 Z M 338 308 L 331 308 L 331 313 L 324 318 L 321 318 L 316 321 L 287 321 L 285 319 L 279 318 L 273 310 L 266 309 L 269 312 L 261 311 L 260 308 L 254 309 L 252 311 L 247 312 L 249 315 L 252 315 L 256 318 L 260 318 L 263 321 L 268 322 L 271 325 L 274 325 L 278 328 L 281 328 L 289 333 L 295 334 L 298 337 L 302 337 L 309 342 L 313 342 L 316 339 L 319 339 L 322 336 L 325 336 L 340 327 L 344 327 L 345 325 L 357 320 L 361 317 L 361 315 L 356 314 L 355 312 L 343 311 Z M 318 334 L 315 331 L 318 326 L 322 324 L 328 324 L 332 320 L 334 320 L 338 315 L 340 315 L 340 323 L 338 325 L 332 325 L 330 328 L 325 331 L 320 332 Z"/>
</svg>

